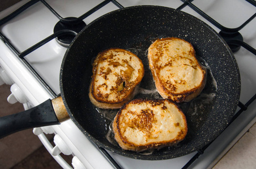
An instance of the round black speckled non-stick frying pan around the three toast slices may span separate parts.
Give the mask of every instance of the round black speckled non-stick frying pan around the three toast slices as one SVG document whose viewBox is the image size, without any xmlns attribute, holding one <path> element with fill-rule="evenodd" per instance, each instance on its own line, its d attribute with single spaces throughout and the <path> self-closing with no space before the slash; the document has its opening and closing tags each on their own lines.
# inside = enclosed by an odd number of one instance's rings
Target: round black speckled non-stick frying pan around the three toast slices
<svg viewBox="0 0 256 169">
<path fill-rule="evenodd" d="M 176 146 L 151 152 L 122 150 L 113 140 L 111 130 L 118 110 L 96 108 L 89 100 L 92 61 L 99 52 L 108 48 L 118 47 L 134 52 L 144 64 L 145 74 L 140 88 L 147 91 L 135 97 L 160 99 L 157 92 L 152 92 L 155 84 L 148 67 L 147 48 L 157 38 L 165 37 L 182 38 L 194 46 L 198 60 L 207 68 L 206 87 L 197 98 L 179 105 L 186 115 L 189 128 L 185 140 Z M 66 108 L 64 112 L 97 146 L 130 158 L 159 160 L 199 150 L 227 127 L 240 97 L 240 74 L 227 43 L 203 21 L 172 8 L 134 6 L 99 17 L 74 38 L 61 65 L 60 88 Z M 56 118 L 56 115 L 53 117 Z M 44 125 L 53 123 L 56 122 Z M 11 132 L 14 131 L 8 131 L 7 134 Z"/>
</svg>

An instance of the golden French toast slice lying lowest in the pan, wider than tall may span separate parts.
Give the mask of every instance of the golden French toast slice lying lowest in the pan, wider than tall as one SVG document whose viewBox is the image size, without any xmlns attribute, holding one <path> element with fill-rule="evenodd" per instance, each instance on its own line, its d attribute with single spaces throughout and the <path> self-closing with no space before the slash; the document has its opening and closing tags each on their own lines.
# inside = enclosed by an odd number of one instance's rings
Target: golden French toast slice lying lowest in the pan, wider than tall
<svg viewBox="0 0 256 169">
<path fill-rule="evenodd" d="M 185 115 L 169 99 L 131 100 L 118 111 L 112 127 L 121 148 L 136 152 L 175 145 L 187 134 Z"/>
</svg>

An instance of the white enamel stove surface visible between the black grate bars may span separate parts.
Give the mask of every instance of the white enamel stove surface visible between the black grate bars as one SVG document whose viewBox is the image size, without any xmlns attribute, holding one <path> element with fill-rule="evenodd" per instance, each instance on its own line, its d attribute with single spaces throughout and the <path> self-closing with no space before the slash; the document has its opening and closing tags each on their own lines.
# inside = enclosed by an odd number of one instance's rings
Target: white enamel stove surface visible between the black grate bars
<svg viewBox="0 0 256 169">
<path fill-rule="evenodd" d="M 19 6 L 28 1 L 22 1 L 11 8 L 0 13 L 0 19 L 10 14 Z M 102 1 L 46 1 L 50 6 L 56 10 L 62 17 L 74 16 L 78 17 L 84 12 L 95 7 Z M 182 1 L 125 1 L 119 0 L 122 6 L 134 5 L 160 5 L 172 8 L 177 8 L 183 4 Z M 211 16 L 217 22 L 228 28 L 236 28 L 244 21 L 249 19 L 255 13 L 255 6 L 250 5 L 246 1 L 240 0 L 225 0 L 225 1 L 193 1 L 195 6 Z M 112 2 L 95 12 L 91 16 L 84 19 L 88 24 L 97 17 L 106 14 L 107 12 L 117 10 Z M 212 26 L 219 32 L 216 26 L 210 24 L 206 19 L 197 14 L 189 6 L 186 6 L 182 11 L 198 17 Z M 7 24 L 1 26 L 1 32 L 6 35 L 14 46 L 20 51 L 35 45 L 35 43 L 48 37 L 53 33 L 54 25 L 58 22 L 56 16 L 52 14 L 41 2 L 36 3 L 28 8 L 22 14 L 16 16 Z M 243 28 L 240 33 L 244 37 L 244 42 L 256 48 L 256 19 L 251 21 Z M 41 75 L 46 83 L 53 89 L 56 94 L 59 94 L 59 69 L 61 66 L 63 55 L 66 48 L 59 46 L 53 39 L 49 43 L 40 47 L 31 54 L 25 56 L 26 60 L 33 66 L 33 68 Z M 234 54 L 236 57 L 240 74 L 241 74 L 241 98 L 242 103 L 246 103 L 256 93 L 256 57 L 249 51 L 241 47 L 240 51 Z M 37 81 L 27 67 L 16 58 L 10 49 L 0 41 L 0 65 L 6 70 L 8 77 L 11 78 L 12 83 L 16 83 L 23 91 L 24 97 L 28 100 L 25 108 L 36 106 L 47 99 L 53 99 L 53 95 L 46 90 L 40 82 Z M 248 128 L 255 122 L 256 104 L 249 106 L 249 109 L 240 115 L 228 128 L 221 134 L 207 150 L 200 155 L 199 159 L 193 163 L 191 168 L 207 168 L 212 167 L 218 159 L 227 152 L 227 150 L 241 137 Z M 59 143 L 58 148 L 53 148 L 49 141 L 46 140 L 46 134 L 57 134 L 65 144 Z M 99 149 L 93 145 L 87 137 L 80 132 L 78 127 L 68 120 L 60 125 L 36 128 L 35 134 L 39 135 L 40 140 L 45 145 L 46 149 L 53 154 L 53 157 L 59 162 L 63 168 L 70 168 L 69 164 L 62 160 L 58 155 L 58 149 L 64 154 L 72 154 L 74 168 L 113 168 L 108 159 L 101 154 Z M 57 140 L 57 138 L 56 138 Z M 57 142 L 57 141 L 56 141 Z M 117 161 L 122 168 L 182 168 L 195 153 L 185 155 L 183 157 L 168 159 L 164 161 L 142 161 L 138 159 L 131 159 L 122 157 L 120 155 L 109 152 L 110 155 Z"/>
</svg>

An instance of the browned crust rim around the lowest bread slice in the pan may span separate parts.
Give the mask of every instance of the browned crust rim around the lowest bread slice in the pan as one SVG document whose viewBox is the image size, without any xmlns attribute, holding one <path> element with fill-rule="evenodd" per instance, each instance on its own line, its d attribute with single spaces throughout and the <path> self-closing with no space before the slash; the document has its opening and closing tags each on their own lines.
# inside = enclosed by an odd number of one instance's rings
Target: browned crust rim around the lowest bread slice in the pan
<svg viewBox="0 0 256 169">
<path fill-rule="evenodd" d="M 177 137 L 173 138 L 172 140 L 168 141 L 157 141 L 155 143 L 149 143 L 149 144 L 144 144 L 144 145 L 139 145 L 139 144 L 134 144 L 131 143 L 125 136 L 120 131 L 120 115 L 122 113 L 123 109 L 127 109 L 128 104 L 140 104 L 142 102 L 150 102 L 152 105 L 158 105 L 159 103 L 164 103 L 167 101 L 170 104 L 173 104 L 176 106 L 176 108 L 179 110 L 183 121 L 185 122 L 185 127 L 181 131 L 180 135 Z M 148 122 L 146 122 L 148 123 Z M 116 139 L 117 143 L 121 146 L 122 149 L 125 150 L 132 150 L 136 152 L 141 152 L 143 150 L 148 150 L 148 149 L 159 149 L 163 148 L 165 146 L 172 146 L 176 145 L 180 141 L 185 139 L 185 136 L 187 134 L 187 123 L 186 123 L 186 117 L 184 113 L 182 113 L 182 110 L 172 101 L 169 99 L 162 99 L 162 100 L 149 100 L 149 99 L 134 99 L 126 103 L 125 105 L 122 106 L 122 108 L 118 111 L 116 117 L 114 118 L 113 124 L 112 124 L 113 132 L 114 132 L 114 138 Z"/>
</svg>

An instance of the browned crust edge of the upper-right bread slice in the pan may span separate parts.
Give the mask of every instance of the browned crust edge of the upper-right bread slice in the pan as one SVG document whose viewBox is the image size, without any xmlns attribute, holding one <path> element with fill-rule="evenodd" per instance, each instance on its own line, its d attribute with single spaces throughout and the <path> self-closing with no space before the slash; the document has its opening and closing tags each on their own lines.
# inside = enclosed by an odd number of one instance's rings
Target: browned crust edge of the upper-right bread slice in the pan
<svg viewBox="0 0 256 169">
<path fill-rule="evenodd" d="M 163 38 L 163 39 L 157 39 L 154 43 L 152 43 L 152 45 L 150 46 L 150 48 L 154 48 L 157 44 L 157 42 L 159 41 L 164 41 L 167 39 L 177 39 L 180 41 L 185 41 L 184 39 L 180 39 L 180 38 L 176 38 L 176 37 L 170 37 L 170 38 Z M 187 41 L 185 41 L 187 42 Z M 189 42 L 187 42 L 189 43 Z M 195 51 L 194 51 L 194 47 L 190 44 L 190 48 L 191 48 L 191 55 L 193 55 L 195 57 Z M 149 48 L 149 50 L 150 50 Z M 196 57 L 195 57 L 196 58 Z M 150 51 L 148 52 L 148 60 L 151 60 L 151 56 L 150 56 Z M 177 92 L 173 92 L 168 90 L 165 87 L 165 83 L 163 81 L 160 81 L 160 79 L 158 78 L 158 73 L 156 71 L 156 68 L 154 66 L 154 64 L 150 64 L 150 69 L 153 75 L 153 79 L 155 81 L 155 86 L 157 91 L 159 92 L 159 94 L 165 98 L 165 99 L 172 99 L 173 101 L 175 101 L 176 103 L 182 103 L 182 102 L 187 102 L 187 101 L 191 101 L 192 99 L 194 99 L 195 97 L 197 97 L 200 92 L 202 92 L 205 84 L 206 84 L 206 72 L 207 70 L 205 68 L 203 68 L 203 66 L 198 62 L 198 60 L 196 60 L 197 65 L 199 66 L 200 70 L 203 72 L 203 78 L 202 81 L 200 82 L 200 84 L 197 87 L 194 88 L 190 88 L 189 90 L 185 90 L 183 92 L 177 93 Z"/>
</svg>

